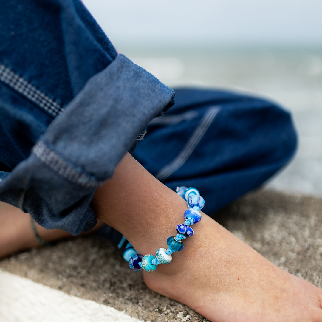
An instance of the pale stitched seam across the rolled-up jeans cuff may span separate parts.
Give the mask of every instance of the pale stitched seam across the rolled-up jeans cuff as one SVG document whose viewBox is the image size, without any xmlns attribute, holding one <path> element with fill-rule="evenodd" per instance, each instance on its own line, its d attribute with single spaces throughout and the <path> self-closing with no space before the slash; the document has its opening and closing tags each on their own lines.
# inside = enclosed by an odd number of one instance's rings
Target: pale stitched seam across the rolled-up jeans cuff
<svg viewBox="0 0 322 322">
<path fill-rule="evenodd" d="M 66 161 L 56 154 L 56 152 L 47 147 L 43 141 L 38 141 L 33 147 L 33 153 L 64 178 L 82 187 L 95 188 L 103 183 L 103 181 L 81 173 L 69 166 Z"/>
</svg>

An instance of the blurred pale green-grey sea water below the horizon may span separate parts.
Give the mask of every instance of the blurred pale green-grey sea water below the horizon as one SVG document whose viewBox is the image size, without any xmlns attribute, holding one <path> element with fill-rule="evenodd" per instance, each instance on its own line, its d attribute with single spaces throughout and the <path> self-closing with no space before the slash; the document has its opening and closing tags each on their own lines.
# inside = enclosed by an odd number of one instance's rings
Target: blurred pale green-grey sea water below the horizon
<svg viewBox="0 0 322 322">
<path fill-rule="evenodd" d="M 232 89 L 270 98 L 292 112 L 299 135 L 292 162 L 267 186 L 322 196 L 322 47 L 119 46 L 170 87 Z"/>
</svg>

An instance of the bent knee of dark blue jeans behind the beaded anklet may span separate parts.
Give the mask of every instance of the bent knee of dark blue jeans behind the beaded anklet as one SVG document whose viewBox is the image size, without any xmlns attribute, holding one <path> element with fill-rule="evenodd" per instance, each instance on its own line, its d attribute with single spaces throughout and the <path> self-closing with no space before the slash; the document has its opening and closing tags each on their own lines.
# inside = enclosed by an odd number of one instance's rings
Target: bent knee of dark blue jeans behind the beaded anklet
<svg viewBox="0 0 322 322">
<path fill-rule="evenodd" d="M 260 186 L 293 156 L 297 136 L 277 104 L 223 90 L 176 89 L 133 156 L 171 189 L 196 187 L 212 214 Z"/>
</svg>

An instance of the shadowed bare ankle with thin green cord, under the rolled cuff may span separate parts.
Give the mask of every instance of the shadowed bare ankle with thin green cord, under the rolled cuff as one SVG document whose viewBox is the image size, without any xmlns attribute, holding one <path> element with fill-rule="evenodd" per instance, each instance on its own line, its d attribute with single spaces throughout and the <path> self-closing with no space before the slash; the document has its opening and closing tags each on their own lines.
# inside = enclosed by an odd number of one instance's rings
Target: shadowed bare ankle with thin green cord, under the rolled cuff
<svg viewBox="0 0 322 322">
<path fill-rule="evenodd" d="M 104 225 L 98 220 L 96 226 L 87 233 L 95 232 Z M 53 242 L 73 235 L 61 229 L 45 229 L 35 223 L 37 234 L 45 242 Z M 0 258 L 15 251 L 41 246 L 31 226 L 31 217 L 19 208 L 0 202 Z"/>
</svg>

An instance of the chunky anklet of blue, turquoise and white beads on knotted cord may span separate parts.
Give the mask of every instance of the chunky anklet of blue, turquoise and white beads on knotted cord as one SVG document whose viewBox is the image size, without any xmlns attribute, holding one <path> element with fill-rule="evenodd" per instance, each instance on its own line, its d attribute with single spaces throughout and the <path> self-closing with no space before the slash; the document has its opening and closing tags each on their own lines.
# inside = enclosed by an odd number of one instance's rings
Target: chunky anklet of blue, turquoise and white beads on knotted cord
<svg viewBox="0 0 322 322">
<path fill-rule="evenodd" d="M 199 191 L 195 188 L 187 188 L 184 186 L 176 187 L 175 192 L 184 198 L 187 202 L 188 209 L 184 212 L 185 222 L 176 226 L 176 236 L 170 236 L 166 240 L 168 249 L 159 248 L 156 256 L 147 254 L 145 256 L 138 254 L 133 246 L 128 243 L 123 253 L 123 258 L 128 261 L 128 265 L 133 271 L 144 269 L 147 272 L 154 272 L 159 264 L 170 264 L 172 260 L 171 254 L 175 251 L 181 251 L 184 248 L 183 239 L 192 237 L 194 230 L 190 227 L 194 223 L 201 220 L 200 209 L 204 208 L 204 198 L 200 196 Z M 119 248 L 126 241 L 123 236 Z"/>
</svg>

